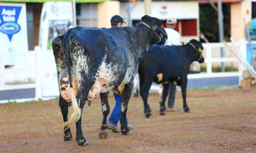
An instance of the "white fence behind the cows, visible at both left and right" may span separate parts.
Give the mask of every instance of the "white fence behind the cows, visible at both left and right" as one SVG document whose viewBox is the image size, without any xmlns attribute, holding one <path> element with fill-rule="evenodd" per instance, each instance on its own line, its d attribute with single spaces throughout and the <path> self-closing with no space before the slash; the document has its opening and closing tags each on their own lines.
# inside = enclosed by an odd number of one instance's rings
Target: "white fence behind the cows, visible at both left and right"
<svg viewBox="0 0 256 153">
<path fill-rule="evenodd" d="M 224 57 L 224 58 L 213 58 L 212 57 L 212 48 L 214 47 L 224 47 L 223 43 L 204 43 L 204 56 L 206 63 L 206 73 L 199 74 L 189 74 L 189 79 L 194 78 L 212 78 L 212 77 L 239 77 L 239 83 L 242 79 L 242 71 L 245 69 L 239 63 L 239 72 L 212 72 L 212 63 L 213 62 L 233 62 L 238 61 L 236 57 Z M 229 43 L 229 46 L 231 44 Z M 239 41 L 240 54 L 243 57 L 246 57 L 246 42 Z M 52 51 L 41 51 L 39 46 L 35 47 L 34 51 L 24 52 L 16 54 L 16 65 L 26 65 L 26 68 L 17 70 L 16 72 L 7 73 L 7 69 L 1 63 L 5 54 L 1 54 L 0 58 L 0 92 L 6 90 L 14 89 L 27 89 L 35 88 L 35 97 L 33 99 L 37 100 L 42 97 L 53 97 L 59 96 L 59 89 L 56 76 L 56 66 L 54 61 L 54 56 Z M 5 83 L 6 78 L 10 75 L 16 75 L 18 78 L 18 73 L 34 72 L 35 81 L 30 84 L 19 84 L 19 85 L 7 85 Z M 6 100 L 0 101 L 0 103 L 6 102 Z"/>
</svg>

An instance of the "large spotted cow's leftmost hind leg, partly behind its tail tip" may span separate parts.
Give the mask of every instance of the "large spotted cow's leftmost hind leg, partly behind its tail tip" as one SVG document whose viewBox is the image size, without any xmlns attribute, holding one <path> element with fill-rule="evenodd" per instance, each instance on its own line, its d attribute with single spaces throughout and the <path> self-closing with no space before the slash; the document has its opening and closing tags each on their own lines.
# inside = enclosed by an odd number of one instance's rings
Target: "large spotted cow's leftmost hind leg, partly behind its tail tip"
<svg viewBox="0 0 256 153">
<path fill-rule="evenodd" d="M 61 113 L 62 113 L 62 116 L 63 116 L 63 120 L 64 122 L 66 122 L 68 119 L 67 119 L 67 115 L 68 115 L 68 102 L 66 102 L 60 95 L 60 98 L 59 98 L 59 106 L 61 107 Z M 72 134 L 71 134 L 71 131 L 70 131 L 70 127 L 64 127 L 64 137 L 63 137 L 63 140 L 64 141 L 71 141 L 72 140 Z M 66 129 L 66 130 L 65 130 Z"/>
</svg>

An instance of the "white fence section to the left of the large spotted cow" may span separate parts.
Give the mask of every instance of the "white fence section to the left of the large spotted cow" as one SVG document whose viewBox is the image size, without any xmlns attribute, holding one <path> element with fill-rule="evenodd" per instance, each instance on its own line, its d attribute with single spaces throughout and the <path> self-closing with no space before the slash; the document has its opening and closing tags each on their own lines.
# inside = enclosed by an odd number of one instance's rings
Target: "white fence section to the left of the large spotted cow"
<svg viewBox="0 0 256 153">
<path fill-rule="evenodd" d="M 36 46 L 34 51 L 15 54 L 15 69 L 5 69 L 5 65 L 2 62 L 6 56 L 8 56 L 8 53 L 0 54 L 0 96 L 3 91 L 11 92 L 13 90 L 31 88 L 35 89 L 35 96 L 26 100 L 38 100 L 43 97 L 56 97 L 59 95 L 56 65 L 52 50 L 41 51 L 41 47 Z M 24 78 L 24 76 L 29 77 L 30 81 L 20 79 Z M 13 78 L 16 81 L 13 81 Z M 14 95 L 14 97 L 16 96 Z M 0 103 L 8 102 L 9 100 L 0 100 Z"/>
</svg>

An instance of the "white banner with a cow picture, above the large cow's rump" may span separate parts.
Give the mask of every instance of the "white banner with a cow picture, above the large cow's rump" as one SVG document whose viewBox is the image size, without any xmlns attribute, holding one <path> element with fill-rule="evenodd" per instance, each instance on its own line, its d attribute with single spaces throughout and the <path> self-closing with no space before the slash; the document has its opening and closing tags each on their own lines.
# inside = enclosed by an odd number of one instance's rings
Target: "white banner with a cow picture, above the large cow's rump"
<svg viewBox="0 0 256 153">
<path fill-rule="evenodd" d="M 39 46 L 52 49 L 52 40 L 72 28 L 71 2 L 45 2 L 40 19 Z"/>
</svg>

